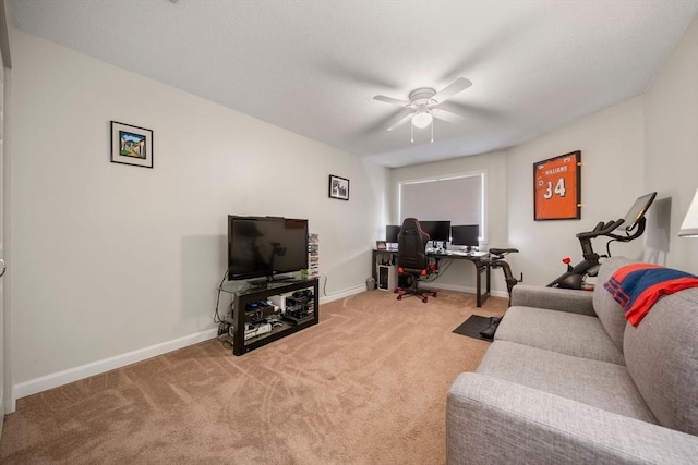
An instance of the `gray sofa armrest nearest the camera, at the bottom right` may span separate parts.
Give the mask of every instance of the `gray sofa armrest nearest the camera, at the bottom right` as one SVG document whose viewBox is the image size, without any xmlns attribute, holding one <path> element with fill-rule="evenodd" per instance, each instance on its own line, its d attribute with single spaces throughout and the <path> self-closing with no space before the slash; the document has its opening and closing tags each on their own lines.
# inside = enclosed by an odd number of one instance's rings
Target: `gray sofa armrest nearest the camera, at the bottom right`
<svg viewBox="0 0 698 465">
<path fill-rule="evenodd" d="M 472 372 L 446 406 L 455 464 L 695 464 L 698 437 Z"/>
</svg>

